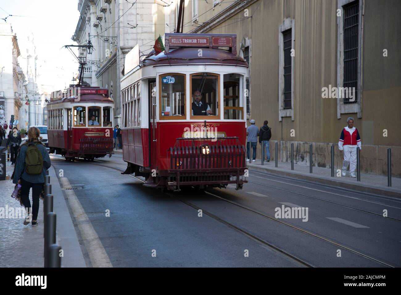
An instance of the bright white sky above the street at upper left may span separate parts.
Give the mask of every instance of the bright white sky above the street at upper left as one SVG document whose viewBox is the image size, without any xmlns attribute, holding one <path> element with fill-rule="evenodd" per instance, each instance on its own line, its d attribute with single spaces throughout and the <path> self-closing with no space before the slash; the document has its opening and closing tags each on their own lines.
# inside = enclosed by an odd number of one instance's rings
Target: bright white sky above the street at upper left
<svg viewBox="0 0 401 295">
<path fill-rule="evenodd" d="M 8 14 L 18 16 L 8 16 Z M 64 45 L 77 44 L 71 40 L 79 19 L 78 0 L 0 0 L 0 18 L 16 33 L 23 67 L 28 36 L 33 34 L 38 57 L 39 84 L 64 89 L 78 73 L 75 57 Z M 4 23 L 4 20 L 0 20 Z M 77 54 L 77 49 L 74 49 Z"/>
</svg>

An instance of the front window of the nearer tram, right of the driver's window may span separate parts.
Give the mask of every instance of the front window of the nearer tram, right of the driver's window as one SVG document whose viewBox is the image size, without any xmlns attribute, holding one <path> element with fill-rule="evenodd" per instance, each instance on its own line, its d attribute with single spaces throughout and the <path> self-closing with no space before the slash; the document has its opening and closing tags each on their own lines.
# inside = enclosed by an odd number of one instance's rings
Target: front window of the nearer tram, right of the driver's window
<svg viewBox="0 0 401 295">
<path fill-rule="evenodd" d="M 223 81 L 224 119 L 243 119 L 242 93 L 240 83 L 242 76 L 238 74 L 225 74 Z"/>
</svg>

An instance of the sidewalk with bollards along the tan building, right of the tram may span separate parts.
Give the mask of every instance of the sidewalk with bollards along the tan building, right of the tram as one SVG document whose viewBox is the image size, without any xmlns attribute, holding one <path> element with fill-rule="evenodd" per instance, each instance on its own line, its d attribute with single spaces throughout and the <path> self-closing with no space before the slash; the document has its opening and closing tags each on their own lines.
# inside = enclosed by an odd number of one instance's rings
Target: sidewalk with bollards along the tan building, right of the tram
<svg viewBox="0 0 401 295">
<path fill-rule="evenodd" d="M 309 173 L 309 166 L 298 165 L 294 163 L 294 170 L 291 170 L 291 162 L 278 162 L 277 168 L 275 168 L 275 162 L 264 162 L 261 165 L 261 159 L 256 159 L 256 162 L 247 162 L 250 172 L 252 170 L 259 172 L 267 172 L 276 174 L 279 176 L 286 176 L 290 178 L 296 178 L 300 180 L 308 180 L 312 182 L 318 182 L 321 184 L 327 184 L 330 186 L 336 186 L 346 188 L 350 190 L 356 190 L 359 192 L 366 192 L 371 194 L 378 194 L 382 196 L 389 196 L 395 198 L 401 198 L 401 179 L 391 178 L 391 187 L 387 186 L 387 176 L 373 175 L 373 174 L 360 174 L 360 182 L 356 178 L 349 176 L 337 177 L 337 168 L 334 169 L 334 177 L 331 177 L 331 169 L 313 167 L 312 174 Z M 355 172 L 356 175 L 356 172 Z"/>
</svg>

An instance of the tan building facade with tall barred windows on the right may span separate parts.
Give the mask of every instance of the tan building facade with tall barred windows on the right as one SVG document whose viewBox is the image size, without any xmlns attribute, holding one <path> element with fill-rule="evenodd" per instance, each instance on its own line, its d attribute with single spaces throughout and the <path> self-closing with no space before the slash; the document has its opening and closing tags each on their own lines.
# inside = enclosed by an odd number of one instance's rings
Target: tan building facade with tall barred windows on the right
<svg viewBox="0 0 401 295">
<path fill-rule="evenodd" d="M 347 117 L 362 139 L 361 172 L 401 177 L 401 28 L 397 0 L 185 1 L 184 32 L 236 33 L 249 68 L 248 119 L 272 128 L 278 160 L 342 163 L 337 143 Z M 342 93 L 340 87 L 353 92 Z M 342 94 L 338 94 L 339 92 Z M 337 91 L 337 92 L 336 92 Z M 350 94 L 347 97 L 347 94 Z M 353 97 L 350 97 L 350 96 Z M 258 145 L 257 155 L 260 157 Z"/>
</svg>

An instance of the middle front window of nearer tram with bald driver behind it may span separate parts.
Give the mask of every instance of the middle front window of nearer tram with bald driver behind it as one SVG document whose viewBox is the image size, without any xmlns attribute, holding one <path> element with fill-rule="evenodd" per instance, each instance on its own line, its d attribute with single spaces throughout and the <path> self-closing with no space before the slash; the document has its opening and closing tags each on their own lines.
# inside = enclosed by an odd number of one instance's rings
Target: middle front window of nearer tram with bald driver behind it
<svg viewBox="0 0 401 295">
<path fill-rule="evenodd" d="M 191 115 L 219 115 L 219 77 L 212 73 L 191 75 Z"/>
</svg>

